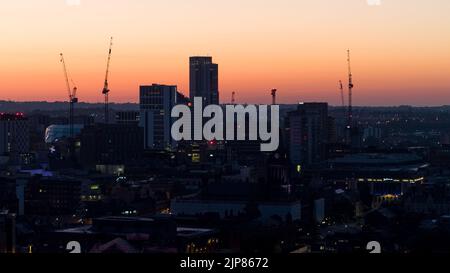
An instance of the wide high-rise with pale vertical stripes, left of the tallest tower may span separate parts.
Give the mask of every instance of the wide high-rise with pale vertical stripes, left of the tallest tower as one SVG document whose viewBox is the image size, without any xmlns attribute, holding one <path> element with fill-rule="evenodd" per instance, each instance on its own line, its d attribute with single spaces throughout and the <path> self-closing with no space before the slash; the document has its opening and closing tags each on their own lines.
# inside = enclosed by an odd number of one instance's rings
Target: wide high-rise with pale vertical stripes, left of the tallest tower
<svg viewBox="0 0 450 273">
<path fill-rule="evenodd" d="M 175 146 L 171 136 L 172 108 L 186 103 L 175 85 L 144 85 L 140 87 L 140 126 L 144 128 L 146 149 L 164 149 Z"/>
</svg>

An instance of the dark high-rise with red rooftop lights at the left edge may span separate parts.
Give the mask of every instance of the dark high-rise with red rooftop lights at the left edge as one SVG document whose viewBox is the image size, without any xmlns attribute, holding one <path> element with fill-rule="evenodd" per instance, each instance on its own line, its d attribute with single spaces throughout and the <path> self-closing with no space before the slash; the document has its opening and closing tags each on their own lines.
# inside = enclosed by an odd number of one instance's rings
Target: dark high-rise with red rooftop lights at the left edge
<svg viewBox="0 0 450 273">
<path fill-rule="evenodd" d="M 28 119 L 23 113 L 0 113 L 0 156 L 18 160 L 29 151 L 29 138 Z"/>
</svg>

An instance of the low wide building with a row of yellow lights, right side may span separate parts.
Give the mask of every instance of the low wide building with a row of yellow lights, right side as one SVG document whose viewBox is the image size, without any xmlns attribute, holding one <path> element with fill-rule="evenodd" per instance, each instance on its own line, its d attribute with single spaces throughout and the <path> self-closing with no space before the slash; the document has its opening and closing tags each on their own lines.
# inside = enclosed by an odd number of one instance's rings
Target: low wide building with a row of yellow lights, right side
<svg viewBox="0 0 450 273">
<path fill-rule="evenodd" d="M 366 204 L 396 202 L 411 188 L 427 183 L 430 165 L 411 153 L 358 153 L 328 160 L 318 169 L 324 183 L 357 191 Z"/>
</svg>

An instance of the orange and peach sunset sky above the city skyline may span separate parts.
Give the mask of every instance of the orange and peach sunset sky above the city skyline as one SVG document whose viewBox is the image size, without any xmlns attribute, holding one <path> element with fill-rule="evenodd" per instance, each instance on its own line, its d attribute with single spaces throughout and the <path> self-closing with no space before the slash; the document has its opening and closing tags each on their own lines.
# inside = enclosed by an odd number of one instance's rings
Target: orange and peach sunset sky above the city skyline
<svg viewBox="0 0 450 273">
<path fill-rule="evenodd" d="M 78 2 L 78 3 L 77 3 Z M 448 0 L 0 0 L 0 100 L 81 101 L 141 84 L 189 92 L 189 56 L 219 64 L 222 102 L 340 104 L 352 52 L 355 105 L 450 104 Z"/>
</svg>

